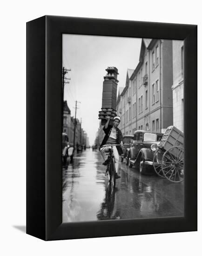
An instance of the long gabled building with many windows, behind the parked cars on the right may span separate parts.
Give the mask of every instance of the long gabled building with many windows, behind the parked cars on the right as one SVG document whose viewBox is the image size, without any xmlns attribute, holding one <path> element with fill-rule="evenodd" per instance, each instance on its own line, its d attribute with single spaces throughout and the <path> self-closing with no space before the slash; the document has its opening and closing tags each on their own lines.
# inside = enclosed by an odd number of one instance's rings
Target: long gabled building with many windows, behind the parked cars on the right
<svg viewBox="0 0 202 256">
<path fill-rule="evenodd" d="M 126 85 L 118 96 L 122 134 L 135 130 L 164 132 L 173 124 L 172 40 L 142 39 L 139 63 L 128 69 Z"/>
</svg>

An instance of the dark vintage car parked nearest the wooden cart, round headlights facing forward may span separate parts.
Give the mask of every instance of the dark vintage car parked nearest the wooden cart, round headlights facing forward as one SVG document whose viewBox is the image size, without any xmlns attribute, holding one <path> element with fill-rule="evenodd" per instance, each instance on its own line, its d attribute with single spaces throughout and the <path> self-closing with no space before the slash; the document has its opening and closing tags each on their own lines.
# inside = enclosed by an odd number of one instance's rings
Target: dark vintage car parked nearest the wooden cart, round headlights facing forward
<svg viewBox="0 0 202 256">
<path fill-rule="evenodd" d="M 129 167 L 139 167 L 141 174 L 154 171 L 152 144 L 159 144 L 162 139 L 162 133 L 137 130 L 134 133 L 133 146 L 128 152 Z"/>
</svg>

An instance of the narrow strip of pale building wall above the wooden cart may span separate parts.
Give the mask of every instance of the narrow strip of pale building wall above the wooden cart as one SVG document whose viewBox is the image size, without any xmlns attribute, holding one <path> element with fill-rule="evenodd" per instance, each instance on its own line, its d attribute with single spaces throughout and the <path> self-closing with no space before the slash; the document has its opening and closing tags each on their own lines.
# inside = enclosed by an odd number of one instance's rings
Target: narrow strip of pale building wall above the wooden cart
<svg viewBox="0 0 202 256">
<path fill-rule="evenodd" d="M 184 130 L 184 43 L 173 40 L 173 125 Z"/>
</svg>

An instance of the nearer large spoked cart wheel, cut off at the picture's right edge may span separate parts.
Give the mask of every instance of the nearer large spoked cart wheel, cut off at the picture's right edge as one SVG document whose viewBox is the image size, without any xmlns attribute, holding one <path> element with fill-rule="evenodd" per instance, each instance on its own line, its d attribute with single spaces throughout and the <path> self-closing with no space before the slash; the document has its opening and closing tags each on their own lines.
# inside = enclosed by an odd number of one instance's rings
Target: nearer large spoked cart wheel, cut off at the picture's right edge
<svg viewBox="0 0 202 256">
<path fill-rule="evenodd" d="M 184 149 L 178 146 L 169 148 L 162 157 L 163 175 L 171 182 L 184 180 Z"/>
</svg>

